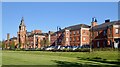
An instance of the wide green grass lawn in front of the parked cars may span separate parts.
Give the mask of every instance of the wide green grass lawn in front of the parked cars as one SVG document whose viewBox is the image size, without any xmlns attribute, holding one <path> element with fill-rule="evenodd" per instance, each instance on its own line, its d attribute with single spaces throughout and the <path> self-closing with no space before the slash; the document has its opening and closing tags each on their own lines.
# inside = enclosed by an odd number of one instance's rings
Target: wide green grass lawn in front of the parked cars
<svg viewBox="0 0 120 67">
<path fill-rule="evenodd" d="M 2 67 L 119 67 L 118 51 L 2 51 Z"/>
</svg>

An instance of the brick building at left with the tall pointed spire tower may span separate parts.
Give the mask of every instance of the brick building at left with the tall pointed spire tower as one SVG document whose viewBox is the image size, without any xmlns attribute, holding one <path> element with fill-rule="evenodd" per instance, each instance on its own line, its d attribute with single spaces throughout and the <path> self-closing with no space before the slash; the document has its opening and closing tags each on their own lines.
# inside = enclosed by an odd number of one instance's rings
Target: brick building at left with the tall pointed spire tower
<svg viewBox="0 0 120 67">
<path fill-rule="evenodd" d="M 46 33 L 42 33 L 41 30 L 27 32 L 24 18 L 22 17 L 21 23 L 19 25 L 19 31 L 17 32 L 17 37 L 10 38 L 10 34 L 7 34 L 5 48 L 9 48 L 9 45 L 12 45 L 13 42 L 16 48 L 40 48 L 40 42 L 45 38 L 45 36 Z"/>
</svg>

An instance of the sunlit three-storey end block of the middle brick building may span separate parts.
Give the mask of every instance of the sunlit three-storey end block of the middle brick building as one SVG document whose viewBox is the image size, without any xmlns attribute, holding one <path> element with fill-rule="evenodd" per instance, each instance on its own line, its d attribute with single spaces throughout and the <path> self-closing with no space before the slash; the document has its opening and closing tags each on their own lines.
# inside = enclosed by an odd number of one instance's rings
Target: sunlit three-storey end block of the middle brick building
<svg viewBox="0 0 120 67">
<path fill-rule="evenodd" d="M 90 26 L 86 24 L 78 24 L 67 28 L 70 30 L 71 46 L 89 45 Z"/>
</svg>

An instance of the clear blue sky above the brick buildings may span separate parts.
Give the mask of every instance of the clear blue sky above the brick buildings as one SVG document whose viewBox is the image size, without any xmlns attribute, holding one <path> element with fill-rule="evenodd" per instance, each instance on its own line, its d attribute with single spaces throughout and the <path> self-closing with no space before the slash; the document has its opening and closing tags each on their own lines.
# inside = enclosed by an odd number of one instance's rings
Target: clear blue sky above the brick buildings
<svg viewBox="0 0 120 67">
<path fill-rule="evenodd" d="M 98 24 L 106 19 L 118 20 L 117 2 L 3 2 L 2 39 L 17 36 L 18 27 L 24 17 L 27 31 L 56 31 L 76 24 L 91 24 L 96 17 Z"/>
</svg>

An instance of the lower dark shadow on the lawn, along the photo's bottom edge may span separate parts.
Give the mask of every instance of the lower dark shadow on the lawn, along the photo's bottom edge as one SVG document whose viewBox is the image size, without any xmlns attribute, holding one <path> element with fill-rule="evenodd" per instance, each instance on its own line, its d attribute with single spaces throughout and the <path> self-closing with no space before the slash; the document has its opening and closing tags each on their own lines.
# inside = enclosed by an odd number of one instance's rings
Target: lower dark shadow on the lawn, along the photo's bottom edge
<svg viewBox="0 0 120 67">
<path fill-rule="evenodd" d="M 81 64 L 76 62 L 57 61 L 57 60 L 52 60 L 52 61 L 57 63 L 57 67 L 117 67 L 110 65 Z"/>
</svg>

